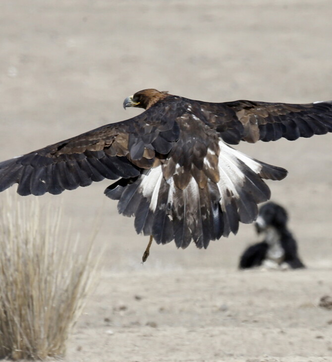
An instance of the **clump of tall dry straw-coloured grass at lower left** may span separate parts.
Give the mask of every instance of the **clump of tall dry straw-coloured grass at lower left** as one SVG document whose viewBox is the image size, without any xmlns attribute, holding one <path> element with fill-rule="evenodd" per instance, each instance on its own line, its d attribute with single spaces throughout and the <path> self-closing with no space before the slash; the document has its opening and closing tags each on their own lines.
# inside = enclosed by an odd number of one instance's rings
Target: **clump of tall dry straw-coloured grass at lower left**
<svg viewBox="0 0 332 362">
<path fill-rule="evenodd" d="M 0 358 L 63 356 L 94 274 L 90 241 L 78 252 L 61 208 L 7 193 L 0 206 Z M 95 263 L 96 265 L 96 263 Z"/>
</svg>

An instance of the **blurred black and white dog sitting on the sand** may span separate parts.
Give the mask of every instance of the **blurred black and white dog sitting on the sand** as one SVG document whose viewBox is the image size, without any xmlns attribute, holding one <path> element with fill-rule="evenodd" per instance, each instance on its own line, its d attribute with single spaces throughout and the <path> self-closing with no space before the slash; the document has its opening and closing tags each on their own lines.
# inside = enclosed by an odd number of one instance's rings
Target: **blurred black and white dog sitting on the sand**
<svg viewBox="0 0 332 362">
<path fill-rule="evenodd" d="M 240 269 L 264 266 L 267 268 L 304 268 L 297 255 L 297 244 L 287 230 L 287 212 L 274 202 L 268 202 L 259 210 L 255 222 L 258 234 L 264 233 L 264 241 L 249 246 L 240 258 Z"/>
</svg>

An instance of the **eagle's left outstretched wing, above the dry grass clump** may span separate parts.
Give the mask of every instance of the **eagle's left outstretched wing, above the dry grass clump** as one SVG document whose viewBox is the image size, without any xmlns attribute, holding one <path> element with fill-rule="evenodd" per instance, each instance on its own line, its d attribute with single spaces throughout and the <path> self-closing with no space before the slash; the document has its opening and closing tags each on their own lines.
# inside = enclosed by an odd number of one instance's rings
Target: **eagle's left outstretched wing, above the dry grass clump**
<svg viewBox="0 0 332 362">
<path fill-rule="evenodd" d="M 0 163 L 0 191 L 18 183 L 20 195 L 61 193 L 103 179 L 133 178 L 163 157 L 179 136 L 163 107 L 96 128 Z"/>
</svg>

